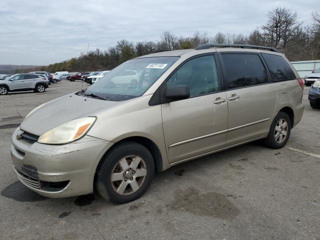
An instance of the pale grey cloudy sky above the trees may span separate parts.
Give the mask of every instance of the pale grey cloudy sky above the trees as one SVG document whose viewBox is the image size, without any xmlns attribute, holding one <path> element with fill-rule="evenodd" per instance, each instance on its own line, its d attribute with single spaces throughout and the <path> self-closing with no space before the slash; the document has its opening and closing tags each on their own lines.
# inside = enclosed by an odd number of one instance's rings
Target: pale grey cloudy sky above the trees
<svg viewBox="0 0 320 240">
<path fill-rule="evenodd" d="M 318 0 L 1 0 L 0 64 L 46 65 L 119 39 L 158 40 L 206 31 L 248 34 L 276 6 L 298 12 L 304 24 Z M 317 9 L 318 8 L 318 9 Z"/>
</svg>

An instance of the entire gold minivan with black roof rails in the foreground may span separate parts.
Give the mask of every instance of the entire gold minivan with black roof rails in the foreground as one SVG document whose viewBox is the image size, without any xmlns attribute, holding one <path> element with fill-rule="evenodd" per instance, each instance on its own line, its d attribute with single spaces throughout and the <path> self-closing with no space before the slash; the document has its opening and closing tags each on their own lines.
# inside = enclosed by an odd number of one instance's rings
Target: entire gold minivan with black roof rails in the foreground
<svg viewBox="0 0 320 240">
<path fill-rule="evenodd" d="M 301 119 L 302 92 L 297 72 L 274 48 L 158 51 L 28 113 L 12 136 L 14 171 L 44 196 L 96 190 L 128 202 L 155 171 L 258 139 L 284 146 Z"/>
</svg>

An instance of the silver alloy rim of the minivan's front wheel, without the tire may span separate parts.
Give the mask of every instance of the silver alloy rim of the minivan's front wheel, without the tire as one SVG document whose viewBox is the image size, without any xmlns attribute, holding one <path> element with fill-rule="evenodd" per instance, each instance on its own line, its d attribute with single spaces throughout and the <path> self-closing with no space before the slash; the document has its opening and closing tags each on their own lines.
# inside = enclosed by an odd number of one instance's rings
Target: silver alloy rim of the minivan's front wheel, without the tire
<svg viewBox="0 0 320 240">
<path fill-rule="evenodd" d="M 111 171 L 112 189 L 119 195 L 130 195 L 142 186 L 146 172 L 145 161 L 140 156 L 125 156 L 114 165 Z"/>
</svg>

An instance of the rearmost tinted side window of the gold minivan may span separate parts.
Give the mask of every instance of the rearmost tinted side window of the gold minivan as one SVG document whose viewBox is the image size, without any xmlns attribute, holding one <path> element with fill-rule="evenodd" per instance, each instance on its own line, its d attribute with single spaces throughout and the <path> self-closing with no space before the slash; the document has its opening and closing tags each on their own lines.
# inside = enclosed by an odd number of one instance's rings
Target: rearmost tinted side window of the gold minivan
<svg viewBox="0 0 320 240">
<path fill-rule="evenodd" d="M 262 56 L 270 70 L 273 81 L 283 81 L 296 78 L 291 67 L 282 56 L 267 53 L 262 53 Z"/>
</svg>

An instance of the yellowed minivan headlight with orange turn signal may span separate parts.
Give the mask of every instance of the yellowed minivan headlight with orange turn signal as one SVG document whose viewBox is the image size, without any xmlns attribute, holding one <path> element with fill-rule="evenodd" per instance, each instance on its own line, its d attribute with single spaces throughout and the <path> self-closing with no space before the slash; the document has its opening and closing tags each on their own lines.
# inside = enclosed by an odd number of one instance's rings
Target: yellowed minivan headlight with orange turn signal
<svg viewBox="0 0 320 240">
<path fill-rule="evenodd" d="M 44 144 L 65 144 L 75 141 L 88 132 L 95 119 L 95 116 L 87 116 L 63 123 L 40 135 L 38 142 Z"/>
</svg>

